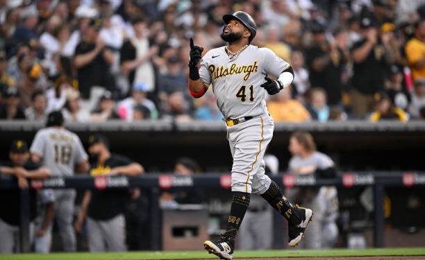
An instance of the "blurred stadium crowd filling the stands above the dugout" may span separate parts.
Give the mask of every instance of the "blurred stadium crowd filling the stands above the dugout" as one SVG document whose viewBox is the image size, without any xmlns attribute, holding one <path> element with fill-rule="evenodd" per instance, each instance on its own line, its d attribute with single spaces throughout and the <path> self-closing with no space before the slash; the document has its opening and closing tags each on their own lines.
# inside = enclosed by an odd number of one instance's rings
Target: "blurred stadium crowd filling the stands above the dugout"
<svg viewBox="0 0 425 260">
<path fill-rule="evenodd" d="M 422 119 L 425 1 L 3 0 L 0 119 L 219 120 L 213 92 L 188 94 L 189 39 L 224 42 L 222 16 L 248 12 L 252 44 L 295 71 L 275 121 Z"/>
</svg>

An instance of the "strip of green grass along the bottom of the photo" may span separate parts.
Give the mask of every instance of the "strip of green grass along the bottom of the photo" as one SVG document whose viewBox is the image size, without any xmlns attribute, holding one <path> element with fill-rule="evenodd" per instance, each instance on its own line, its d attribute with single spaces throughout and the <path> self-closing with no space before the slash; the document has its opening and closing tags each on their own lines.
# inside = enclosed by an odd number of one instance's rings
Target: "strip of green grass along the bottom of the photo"
<svg viewBox="0 0 425 260">
<path fill-rule="evenodd" d="M 236 251 L 233 259 L 260 257 L 370 257 L 424 255 L 425 248 L 374 248 L 365 250 L 267 250 Z M 424 257 L 425 258 L 425 257 Z M 206 251 L 62 253 L 0 255 L 0 260 L 153 260 L 153 259 L 217 259 Z"/>
</svg>

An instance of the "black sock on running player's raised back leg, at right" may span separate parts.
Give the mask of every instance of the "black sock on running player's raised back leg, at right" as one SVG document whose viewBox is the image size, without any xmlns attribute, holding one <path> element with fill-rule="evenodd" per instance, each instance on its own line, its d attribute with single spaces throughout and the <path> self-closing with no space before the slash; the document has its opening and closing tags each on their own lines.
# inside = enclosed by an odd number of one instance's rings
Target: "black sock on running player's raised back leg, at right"
<svg viewBox="0 0 425 260">
<path fill-rule="evenodd" d="M 292 204 L 285 196 L 283 196 L 283 193 L 276 182 L 272 181 L 269 189 L 267 189 L 265 193 L 261 194 L 261 197 L 267 200 L 274 209 L 279 211 L 282 216 L 290 221 L 291 215 L 294 211 L 292 209 Z"/>
</svg>

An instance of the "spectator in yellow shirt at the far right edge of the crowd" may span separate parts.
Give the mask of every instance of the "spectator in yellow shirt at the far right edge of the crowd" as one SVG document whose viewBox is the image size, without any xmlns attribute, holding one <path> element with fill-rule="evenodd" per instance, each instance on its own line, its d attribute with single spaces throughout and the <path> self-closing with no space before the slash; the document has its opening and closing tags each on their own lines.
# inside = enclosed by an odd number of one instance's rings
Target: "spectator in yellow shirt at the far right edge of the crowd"
<svg viewBox="0 0 425 260">
<path fill-rule="evenodd" d="M 405 51 L 413 80 L 425 78 L 425 20 L 415 24 L 415 37 L 408 41 Z"/>
</svg>

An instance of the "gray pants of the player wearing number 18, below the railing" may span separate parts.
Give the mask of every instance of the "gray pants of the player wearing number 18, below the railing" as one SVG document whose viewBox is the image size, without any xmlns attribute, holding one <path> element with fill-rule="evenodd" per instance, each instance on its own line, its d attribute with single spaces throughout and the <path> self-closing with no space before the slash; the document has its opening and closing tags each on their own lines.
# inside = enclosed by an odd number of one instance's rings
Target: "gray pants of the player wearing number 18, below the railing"
<svg viewBox="0 0 425 260">
<path fill-rule="evenodd" d="M 58 224 L 60 238 L 65 252 L 76 252 L 76 239 L 74 232 L 74 189 L 55 190 L 55 220 Z"/>
</svg>

